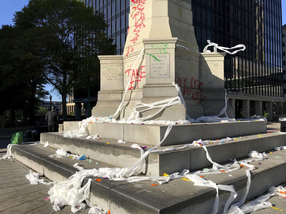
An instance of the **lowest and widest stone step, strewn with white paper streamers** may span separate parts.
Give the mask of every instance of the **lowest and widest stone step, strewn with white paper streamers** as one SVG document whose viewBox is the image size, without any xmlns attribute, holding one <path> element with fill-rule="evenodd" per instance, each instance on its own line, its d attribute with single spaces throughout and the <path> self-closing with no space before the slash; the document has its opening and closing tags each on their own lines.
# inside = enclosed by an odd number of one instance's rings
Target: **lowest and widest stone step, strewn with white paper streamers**
<svg viewBox="0 0 286 214">
<path fill-rule="evenodd" d="M 12 147 L 12 154 L 18 161 L 57 182 L 65 180 L 77 171 L 73 167 L 74 163 L 79 163 L 85 169 L 113 167 L 99 161 L 100 164 L 95 164 L 95 160 L 93 163 L 89 163 L 88 161 L 72 161 L 69 157 L 49 158 L 48 155 L 55 154 L 51 149 L 51 147 L 42 145 L 15 145 Z M 246 201 L 286 180 L 286 150 L 268 153 L 268 155 L 264 161 L 251 162 L 257 169 L 251 172 L 251 185 Z M 277 158 L 278 156 L 279 158 Z M 212 180 L 217 184 L 233 185 L 238 194 L 233 202 L 235 203 L 243 197 L 246 190 L 245 169 L 248 167 L 244 166 L 239 170 L 227 173 L 209 174 L 205 175 L 204 179 Z M 229 174 L 232 177 L 228 176 Z M 110 210 L 113 214 L 209 214 L 212 213 L 216 196 L 214 188 L 194 186 L 193 182 L 182 179 L 175 179 L 164 185 L 151 186 L 156 182 L 128 183 L 102 178 L 101 182 L 97 182 L 94 180 L 97 177 L 91 178 L 93 179 L 91 202 L 106 211 Z M 83 180 L 83 185 L 87 181 L 88 177 Z M 219 191 L 218 213 L 223 212 L 224 204 L 229 196 L 229 192 Z"/>
</svg>

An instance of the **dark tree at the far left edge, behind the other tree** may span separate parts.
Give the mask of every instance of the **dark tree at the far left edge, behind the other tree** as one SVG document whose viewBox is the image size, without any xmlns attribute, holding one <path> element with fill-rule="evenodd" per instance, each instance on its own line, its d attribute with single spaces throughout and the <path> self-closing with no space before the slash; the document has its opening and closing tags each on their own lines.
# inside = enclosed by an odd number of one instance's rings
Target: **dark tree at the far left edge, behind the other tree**
<svg viewBox="0 0 286 214">
<path fill-rule="evenodd" d="M 48 94 L 43 89 L 42 50 L 33 45 L 32 35 L 23 26 L 2 26 L 0 38 L 0 90 L 10 101 L 5 107 L 11 109 L 11 120 L 15 120 L 18 109 L 35 124 L 35 108 Z"/>
</svg>

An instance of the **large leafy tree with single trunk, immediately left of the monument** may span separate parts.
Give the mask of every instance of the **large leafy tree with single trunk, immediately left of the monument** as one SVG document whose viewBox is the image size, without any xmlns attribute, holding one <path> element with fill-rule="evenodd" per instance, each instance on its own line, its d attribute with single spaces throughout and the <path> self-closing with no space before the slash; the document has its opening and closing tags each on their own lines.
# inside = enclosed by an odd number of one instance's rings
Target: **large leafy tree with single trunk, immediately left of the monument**
<svg viewBox="0 0 286 214">
<path fill-rule="evenodd" d="M 33 45 L 41 49 L 43 74 L 62 97 L 65 119 L 66 97 L 74 84 L 98 78 L 97 56 L 115 54 L 113 40 L 106 38 L 104 15 L 78 0 L 30 0 L 16 12 L 14 22 L 25 26 L 33 34 Z"/>
</svg>

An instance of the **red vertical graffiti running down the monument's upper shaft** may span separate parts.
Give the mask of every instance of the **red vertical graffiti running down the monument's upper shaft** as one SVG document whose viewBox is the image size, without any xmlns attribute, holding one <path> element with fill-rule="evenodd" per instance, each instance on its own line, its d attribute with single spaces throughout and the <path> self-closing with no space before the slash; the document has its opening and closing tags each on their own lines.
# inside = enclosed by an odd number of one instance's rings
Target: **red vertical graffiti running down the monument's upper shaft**
<svg viewBox="0 0 286 214">
<path fill-rule="evenodd" d="M 144 4 L 146 0 L 131 0 L 131 2 L 135 3 L 135 5 L 132 7 L 133 11 L 131 13 L 132 19 L 135 20 L 135 29 L 133 31 L 135 35 L 130 41 L 135 44 L 138 40 L 141 28 L 145 27 L 143 21 L 145 20 Z"/>
</svg>

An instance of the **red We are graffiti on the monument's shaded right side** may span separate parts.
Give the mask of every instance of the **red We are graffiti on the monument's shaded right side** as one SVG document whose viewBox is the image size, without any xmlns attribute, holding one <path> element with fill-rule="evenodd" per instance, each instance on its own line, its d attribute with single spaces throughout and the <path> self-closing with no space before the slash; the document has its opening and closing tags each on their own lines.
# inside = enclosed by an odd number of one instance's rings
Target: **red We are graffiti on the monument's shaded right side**
<svg viewBox="0 0 286 214">
<path fill-rule="evenodd" d="M 188 81 L 186 78 L 182 77 L 182 78 L 178 78 L 178 80 L 176 81 L 176 83 L 178 84 L 178 86 L 184 86 L 183 88 L 183 96 L 188 96 L 191 97 L 193 100 L 199 100 L 198 103 L 200 103 L 203 99 L 206 98 L 206 96 L 202 97 L 201 92 L 202 90 L 200 89 L 200 87 L 203 85 L 203 82 L 200 82 L 199 80 L 195 79 L 195 78 L 191 78 L 190 81 Z M 188 84 L 189 83 L 189 84 Z M 189 87 L 189 88 L 187 88 Z"/>
</svg>

